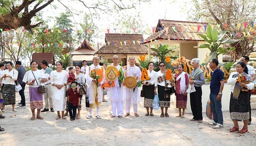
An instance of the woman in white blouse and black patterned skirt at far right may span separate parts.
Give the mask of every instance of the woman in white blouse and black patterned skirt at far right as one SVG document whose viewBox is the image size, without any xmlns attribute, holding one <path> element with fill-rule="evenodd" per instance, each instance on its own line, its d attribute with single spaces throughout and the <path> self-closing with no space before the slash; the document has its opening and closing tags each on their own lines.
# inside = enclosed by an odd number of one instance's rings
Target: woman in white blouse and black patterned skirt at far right
<svg viewBox="0 0 256 146">
<path fill-rule="evenodd" d="M 246 78 L 246 81 L 241 80 L 241 78 L 243 77 Z M 231 85 L 229 112 L 230 118 L 234 123 L 234 126 L 229 131 L 238 131 L 239 133 L 245 133 L 248 131 L 249 121 L 249 90 L 254 88 L 254 83 L 251 80 L 251 77 L 248 76 L 248 68 L 246 67 L 246 64 L 244 62 L 240 61 L 237 63 L 236 72 L 231 73 L 227 80 L 227 83 Z M 244 126 L 240 131 L 238 120 L 244 121 Z"/>
</svg>

